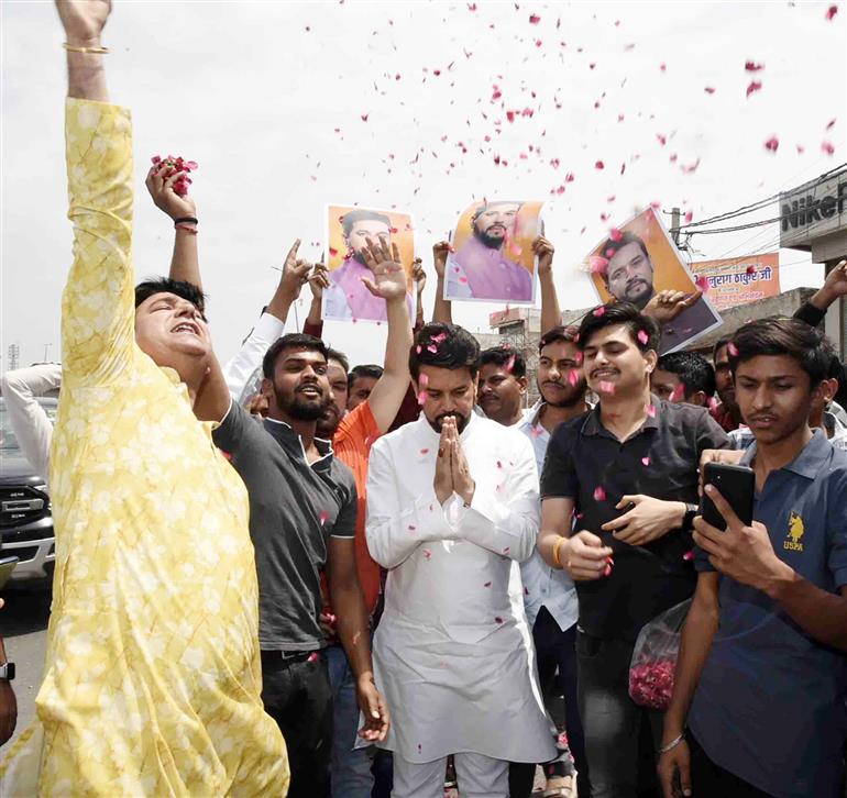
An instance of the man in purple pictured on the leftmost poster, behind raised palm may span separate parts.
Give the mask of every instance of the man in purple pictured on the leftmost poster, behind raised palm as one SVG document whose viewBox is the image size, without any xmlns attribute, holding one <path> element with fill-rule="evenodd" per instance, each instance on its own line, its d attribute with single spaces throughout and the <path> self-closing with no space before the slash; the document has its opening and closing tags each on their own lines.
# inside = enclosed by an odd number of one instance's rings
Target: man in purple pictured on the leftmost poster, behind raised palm
<svg viewBox="0 0 847 798">
<path fill-rule="evenodd" d="M 345 213 L 341 225 L 348 255 L 341 266 L 328 275 L 323 314 L 327 319 L 386 321 L 385 300 L 367 289 L 373 282 L 373 274 L 364 252 L 369 239 L 391 246 L 392 220 L 385 213 L 358 209 Z M 409 319 L 415 318 L 411 293 L 406 295 L 406 303 Z"/>
</svg>

